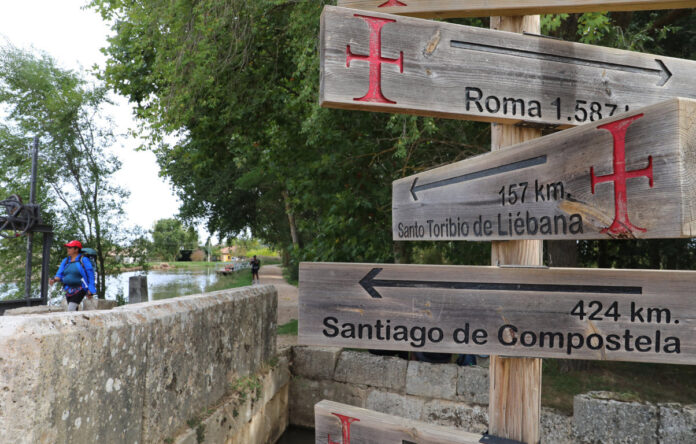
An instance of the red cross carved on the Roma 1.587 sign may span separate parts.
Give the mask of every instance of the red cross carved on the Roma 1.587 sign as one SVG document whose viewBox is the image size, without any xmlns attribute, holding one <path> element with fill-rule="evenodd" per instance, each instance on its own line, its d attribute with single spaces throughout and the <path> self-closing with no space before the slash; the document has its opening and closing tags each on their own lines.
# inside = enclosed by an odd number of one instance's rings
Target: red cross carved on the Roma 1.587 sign
<svg viewBox="0 0 696 444">
<path fill-rule="evenodd" d="M 396 20 L 368 17 L 359 14 L 355 14 L 355 16 L 365 20 L 370 27 L 370 55 L 353 54 L 350 50 L 350 45 L 348 45 L 346 49 L 346 67 L 350 68 L 351 60 L 365 60 L 370 62 L 370 88 L 367 90 L 367 94 L 353 100 L 359 102 L 396 103 L 387 99 L 384 97 L 384 94 L 382 94 L 382 63 L 397 65 L 399 67 L 399 72 L 404 72 L 403 52 L 399 55 L 398 59 L 382 57 L 382 27 Z"/>
</svg>

